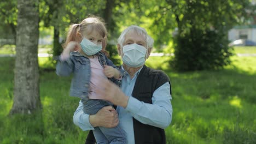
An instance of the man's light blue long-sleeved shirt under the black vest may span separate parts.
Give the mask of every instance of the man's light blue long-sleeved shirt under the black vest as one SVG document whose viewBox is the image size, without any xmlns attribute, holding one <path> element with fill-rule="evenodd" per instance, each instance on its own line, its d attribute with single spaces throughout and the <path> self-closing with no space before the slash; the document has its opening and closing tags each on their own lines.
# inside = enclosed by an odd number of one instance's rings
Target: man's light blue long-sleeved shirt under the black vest
<svg viewBox="0 0 256 144">
<path fill-rule="evenodd" d="M 141 69 L 136 72 L 132 79 L 128 74 L 122 77 L 121 89 L 125 95 L 129 96 L 129 101 L 126 109 L 118 106 L 117 112 L 119 125 L 124 129 L 127 136 L 127 144 L 135 143 L 132 117 L 143 124 L 153 125 L 162 129 L 168 127 L 172 121 L 172 105 L 170 101 L 172 98 L 170 84 L 168 82 L 155 90 L 152 97 L 152 104 L 144 103 L 132 97 L 133 87 Z M 84 131 L 94 130 L 94 127 L 89 122 L 89 115 L 83 112 L 81 101 L 77 110 L 74 112 L 73 122 Z"/>
</svg>

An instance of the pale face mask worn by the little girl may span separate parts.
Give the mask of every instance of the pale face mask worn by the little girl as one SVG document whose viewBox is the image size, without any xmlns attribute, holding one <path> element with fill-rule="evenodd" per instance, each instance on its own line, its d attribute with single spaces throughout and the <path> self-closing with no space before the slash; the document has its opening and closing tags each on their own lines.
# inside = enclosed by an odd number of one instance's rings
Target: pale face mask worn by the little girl
<svg viewBox="0 0 256 144">
<path fill-rule="evenodd" d="M 95 55 L 97 52 L 101 51 L 102 45 L 96 45 L 90 40 L 83 38 L 80 43 L 82 50 L 88 56 Z"/>
</svg>

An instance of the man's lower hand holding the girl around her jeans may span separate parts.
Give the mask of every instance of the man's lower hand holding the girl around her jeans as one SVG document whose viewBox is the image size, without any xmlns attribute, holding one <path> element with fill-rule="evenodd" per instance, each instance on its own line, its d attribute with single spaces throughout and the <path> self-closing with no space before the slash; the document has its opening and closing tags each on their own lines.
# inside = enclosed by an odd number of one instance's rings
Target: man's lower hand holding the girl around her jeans
<svg viewBox="0 0 256 144">
<path fill-rule="evenodd" d="M 113 128 L 119 123 L 117 111 L 112 106 L 105 106 L 95 115 L 89 116 L 92 127 Z"/>
</svg>

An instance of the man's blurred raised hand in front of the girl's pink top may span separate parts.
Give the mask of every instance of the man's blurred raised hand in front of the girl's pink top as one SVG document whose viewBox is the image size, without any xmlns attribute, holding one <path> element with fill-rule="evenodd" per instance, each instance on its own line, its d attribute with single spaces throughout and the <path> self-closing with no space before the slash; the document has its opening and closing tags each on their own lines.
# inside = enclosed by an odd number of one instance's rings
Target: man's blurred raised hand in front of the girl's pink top
<svg viewBox="0 0 256 144">
<path fill-rule="evenodd" d="M 96 93 L 99 95 L 102 95 L 102 98 L 105 100 L 110 101 L 114 105 L 119 105 L 124 108 L 126 108 L 128 104 L 129 97 L 126 96 L 121 89 L 115 85 L 113 82 L 107 80 L 107 79 L 101 79 L 100 83 L 98 84 L 98 87 L 96 89 Z"/>
</svg>

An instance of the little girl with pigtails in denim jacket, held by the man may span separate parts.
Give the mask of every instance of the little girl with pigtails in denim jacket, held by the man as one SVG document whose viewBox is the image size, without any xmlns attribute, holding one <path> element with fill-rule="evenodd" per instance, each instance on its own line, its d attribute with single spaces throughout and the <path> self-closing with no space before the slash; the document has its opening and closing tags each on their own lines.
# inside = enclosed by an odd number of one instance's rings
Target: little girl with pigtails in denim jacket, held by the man
<svg viewBox="0 0 256 144">
<path fill-rule="evenodd" d="M 64 50 L 56 66 L 56 74 L 68 76 L 73 73 L 70 95 L 78 97 L 89 115 L 97 113 L 104 106 L 112 105 L 96 93 L 100 79 L 110 79 L 120 86 L 121 72 L 106 57 L 107 30 L 98 17 L 88 17 L 80 24 L 71 25 Z M 78 51 L 76 51 L 78 50 Z M 97 143 L 126 143 L 124 131 L 119 127 L 96 127 Z"/>
</svg>

